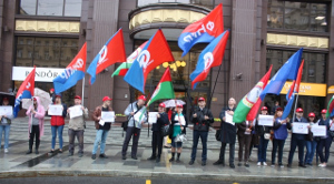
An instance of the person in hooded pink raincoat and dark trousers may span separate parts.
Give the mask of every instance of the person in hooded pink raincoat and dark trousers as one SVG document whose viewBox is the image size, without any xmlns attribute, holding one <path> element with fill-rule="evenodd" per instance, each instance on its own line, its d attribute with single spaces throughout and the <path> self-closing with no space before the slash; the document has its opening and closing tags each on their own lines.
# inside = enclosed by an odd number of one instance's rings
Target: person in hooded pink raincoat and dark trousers
<svg viewBox="0 0 334 184">
<path fill-rule="evenodd" d="M 36 140 L 35 153 L 39 154 L 40 137 L 45 134 L 45 108 L 41 105 L 38 96 L 32 98 L 32 105 L 29 106 L 26 114 L 29 116 L 29 151 L 26 154 L 32 153 L 33 137 Z"/>
</svg>

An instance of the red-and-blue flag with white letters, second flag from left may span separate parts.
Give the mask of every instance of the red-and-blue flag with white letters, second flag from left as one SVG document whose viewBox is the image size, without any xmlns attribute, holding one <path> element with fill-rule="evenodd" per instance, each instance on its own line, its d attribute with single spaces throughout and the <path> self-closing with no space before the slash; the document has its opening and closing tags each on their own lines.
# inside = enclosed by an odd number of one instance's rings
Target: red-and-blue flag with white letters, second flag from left
<svg viewBox="0 0 334 184">
<path fill-rule="evenodd" d="M 76 85 L 78 81 L 85 78 L 87 60 L 87 43 L 82 45 L 76 58 L 68 64 L 62 73 L 53 79 L 53 86 L 56 94 L 61 93 L 71 86 Z"/>
</svg>

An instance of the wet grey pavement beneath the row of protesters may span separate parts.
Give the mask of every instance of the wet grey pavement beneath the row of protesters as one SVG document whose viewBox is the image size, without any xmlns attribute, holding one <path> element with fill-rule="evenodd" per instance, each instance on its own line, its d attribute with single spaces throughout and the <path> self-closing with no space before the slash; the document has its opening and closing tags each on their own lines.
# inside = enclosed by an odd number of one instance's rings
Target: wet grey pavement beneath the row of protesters
<svg viewBox="0 0 334 184">
<path fill-rule="evenodd" d="M 164 149 L 160 163 L 147 161 L 150 156 L 150 137 L 147 136 L 147 129 L 143 130 L 139 140 L 138 160 L 128 159 L 121 160 L 121 129 L 119 126 L 112 126 L 107 140 L 106 154 L 109 159 L 97 159 L 92 161 L 91 150 L 95 139 L 95 129 L 92 122 L 87 122 L 87 130 L 85 132 L 85 155 L 78 157 L 67 156 L 68 136 L 67 127 L 63 130 L 65 139 L 65 153 L 56 153 L 53 155 L 47 154 L 50 151 L 50 126 L 46 121 L 46 136 L 41 139 L 40 154 L 26 155 L 28 150 L 28 134 L 27 134 L 27 120 L 17 119 L 11 125 L 10 134 L 10 147 L 9 153 L 4 154 L 3 150 L 0 150 L 0 178 L 9 177 L 40 177 L 40 176 L 112 176 L 112 177 L 140 177 L 151 178 L 153 182 L 163 178 L 174 180 L 200 180 L 200 181 L 225 181 L 225 182 L 261 182 L 261 181 L 274 181 L 274 182 L 334 182 L 334 160 L 331 154 L 328 166 L 320 168 L 315 166 L 308 166 L 307 168 L 297 167 L 297 153 L 294 156 L 293 168 L 281 168 L 271 166 L 256 166 L 256 149 L 254 149 L 250 156 L 254 162 L 250 162 L 250 167 L 236 166 L 232 170 L 228 166 L 214 166 L 213 163 L 218 159 L 219 143 L 214 139 L 214 131 L 209 133 L 208 141 L 208 162 L 206 166 L 200 166 L 200 145 L 197 153 L 197 159 L 194 165 L 188 165 L 190 157 L 191 146 L 191 131 L 188 133 L 188 142 L 185 143 L 185 149 L 181 154 L 180 163 L 170 163 L 170 151 Z M 288 137 L 289 139 L 289 137 Z M 58 144 L 57 144 L 58 146 Z M 236 146 L 237 147 L 237 146 Z M 269 163 L 271 157 L 269 143 L 267 157 Z M 289 141 L 285 143 L 284 163 L 287 161 L 287 151 L 289 149 Z M 130 150 L 130 149 L 129 149 Z M 237 150 L 237 149 L 236 149 Z M 332 147 L 333 150 L 333 147 Z M 334 152 L 333 152 L 334 153 Z M 237 155 L 237 151 L 236 154 Z M 226 160 L 228 156 L 226 157 Z M 237 162 L 236 162 L 237 163 Z M 82 177 L 84 178 L 84 177 Z M 116 178 L 115 178 L 116 180 Z M 10 182 L 11 180 L 7 180 Z M 141 183 L 143 180 L 140 180 Z M 143 181 L 144 182 L 144 181 Z M 2 183 L 0 181 L 0 183 Z M 26 182 L 24 182 L 26 183 Z M 122 182 L 120 182 L 122 183 Z M 131 183 L 131 182 L 125 182 Z M 158 183 L 158 182 L 156 182 Z M 160 182 L 159 182 L 160 183 Z M 164 183 L 161 181 L 161 183 Z M 160 183 L 160 184 L 161 184 Z M 206 183 L 206 182 L 204 182 Z"/>
</svg>

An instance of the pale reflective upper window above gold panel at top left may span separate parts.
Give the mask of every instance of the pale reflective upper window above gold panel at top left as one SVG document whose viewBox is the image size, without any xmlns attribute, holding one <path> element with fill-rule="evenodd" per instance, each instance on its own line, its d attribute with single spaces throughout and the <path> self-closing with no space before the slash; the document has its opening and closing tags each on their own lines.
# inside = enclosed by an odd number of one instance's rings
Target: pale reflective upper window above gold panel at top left
<svg viewBox="0 0 334 184">
<path fill-rule="evenodd" d="M 20 14 L 80 17 L 81 0 L 21 0 Z"/>
</svg>

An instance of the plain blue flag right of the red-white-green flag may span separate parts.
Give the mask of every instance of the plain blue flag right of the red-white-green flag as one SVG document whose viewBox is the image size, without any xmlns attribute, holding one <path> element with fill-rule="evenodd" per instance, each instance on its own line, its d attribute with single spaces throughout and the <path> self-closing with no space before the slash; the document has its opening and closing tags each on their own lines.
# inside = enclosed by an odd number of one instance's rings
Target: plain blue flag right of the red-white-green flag
<svg viewBox="0 0 334 184">
<path fill-rule="evenodd" d="M 301 64 L 302 54 L 303 54 L 303 48 L 299 49 L 296 53 L 294 53 L 284 63 L 284 65 L 276 72 L 276 74 L 272 78 L 271 82 L 261 93 L 259 95 L 261 100 L 264 100 L 265 95 L 268 93 L 278 95 L 286 80 L 296 79 L 298 68 Z"/>
</svg>

